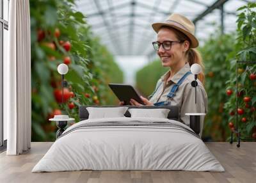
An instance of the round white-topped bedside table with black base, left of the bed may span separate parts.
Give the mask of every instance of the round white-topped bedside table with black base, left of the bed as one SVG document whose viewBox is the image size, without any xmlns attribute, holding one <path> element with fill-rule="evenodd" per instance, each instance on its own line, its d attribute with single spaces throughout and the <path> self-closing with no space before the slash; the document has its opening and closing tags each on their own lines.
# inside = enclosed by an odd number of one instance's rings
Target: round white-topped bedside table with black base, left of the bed
<svg viewBox="0 0 256 183">
<path fill-rule="evenodd" d="M 69 118 L 68 115 L 54 115 L 54 118 L 49 119 L 51 122 L 56 122 L 56 126 L 58 127 L 56 138 L 61 136 L 61 134 L 65 131 L 65 127 L 67 126 L 68 121 L 74 120 L 74 118 Z"/>
</svg>

